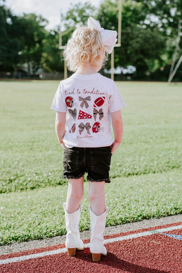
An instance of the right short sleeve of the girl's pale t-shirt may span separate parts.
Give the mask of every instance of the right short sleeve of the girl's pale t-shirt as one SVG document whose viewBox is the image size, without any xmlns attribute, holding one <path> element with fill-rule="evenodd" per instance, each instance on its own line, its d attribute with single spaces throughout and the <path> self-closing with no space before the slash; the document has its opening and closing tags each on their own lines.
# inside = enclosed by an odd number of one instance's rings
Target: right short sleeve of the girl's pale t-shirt
<svg viewBox="0 0 182 273">
<path fill-rule="evenodd" d="M 126 106 L 126 104 L 124 103 L 120 92 L 116 86 L 116 84 L 113 82 L 112 83 L 112 89 L 111 89 L 111 94 L 110 94 L 110 98 L 109 98 L 109 111 L 110 113 L 116 112 L 122 108 L 124 108 Z"/>
</svg>

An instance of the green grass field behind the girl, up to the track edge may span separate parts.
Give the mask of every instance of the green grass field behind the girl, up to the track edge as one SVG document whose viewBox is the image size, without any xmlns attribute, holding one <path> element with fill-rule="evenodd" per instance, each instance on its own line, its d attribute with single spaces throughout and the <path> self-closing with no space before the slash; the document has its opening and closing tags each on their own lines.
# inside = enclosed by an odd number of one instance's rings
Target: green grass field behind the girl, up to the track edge
<svg viewBox="0 0 182 273">
<path fill-rule="evenodd" d="M 63 149 L 50 110 L 58 81 L 0 82 L 0 244 L 66 232 Z M 182 84 L 116 82 L 123 142 L 106 184 L 106 225 L 182 213 Z M 89 229 L 85 182 L 80 229 Z"/>
</svg>

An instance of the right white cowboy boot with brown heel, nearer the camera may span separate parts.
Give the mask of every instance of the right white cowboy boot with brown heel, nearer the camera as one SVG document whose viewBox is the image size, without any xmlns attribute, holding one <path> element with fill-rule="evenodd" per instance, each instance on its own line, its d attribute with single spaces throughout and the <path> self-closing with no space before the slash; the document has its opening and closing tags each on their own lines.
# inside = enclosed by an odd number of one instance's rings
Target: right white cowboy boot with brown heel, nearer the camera
<svg viewBox="0 0 182 273">
<path fill-rule="evenodd" d="M 97 216 L 91 210 L 89 206 L 90 212 L 90 229 L 91 229 L 91 238 L 90 238 L 90 252 L 92 253 L 93 261 L 100 261 L 101 254 L 106 256 L 107 250 L 104 243 L 103 233 L 106 227 L 106 216 L 109 211 L 109 207 L 106 207 L 106 211 Z"/>
</svg>

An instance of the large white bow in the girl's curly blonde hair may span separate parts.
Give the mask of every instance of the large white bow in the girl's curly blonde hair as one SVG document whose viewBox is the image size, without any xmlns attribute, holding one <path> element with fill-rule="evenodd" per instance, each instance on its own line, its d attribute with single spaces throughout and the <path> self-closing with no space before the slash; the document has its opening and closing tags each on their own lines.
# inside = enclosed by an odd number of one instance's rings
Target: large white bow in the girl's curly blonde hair
<svg viewBox="0 0 182 273">
<path fill-rule="evenodd" d="M 100 32 L 101 40 L 105 45 L 106 51 L 110 54 L 113 51 L 114 45 L 117 42 L 117 31 L 101 28 L 99 22 L 94 20 L 92 17 L 89 17 L 88 19 L 88 27 L 96 29 Z"/>
</svg>

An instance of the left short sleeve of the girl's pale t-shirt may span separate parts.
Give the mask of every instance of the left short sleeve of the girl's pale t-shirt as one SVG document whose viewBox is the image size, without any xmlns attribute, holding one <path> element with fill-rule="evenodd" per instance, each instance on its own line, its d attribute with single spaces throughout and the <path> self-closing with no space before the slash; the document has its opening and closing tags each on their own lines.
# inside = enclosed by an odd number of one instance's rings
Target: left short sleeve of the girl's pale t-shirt
<svg viewBox="0 0 182 273">
<path fill-rule="evenodd" d="M 63 113 L 67 112 L 66 103 L 64 102 L 63 96 L 62 96 L 61 83 L 59 84 L 56 94 L 54 96 L 51 109 L 58 112 L 63 112 Z"/>
</svg>

